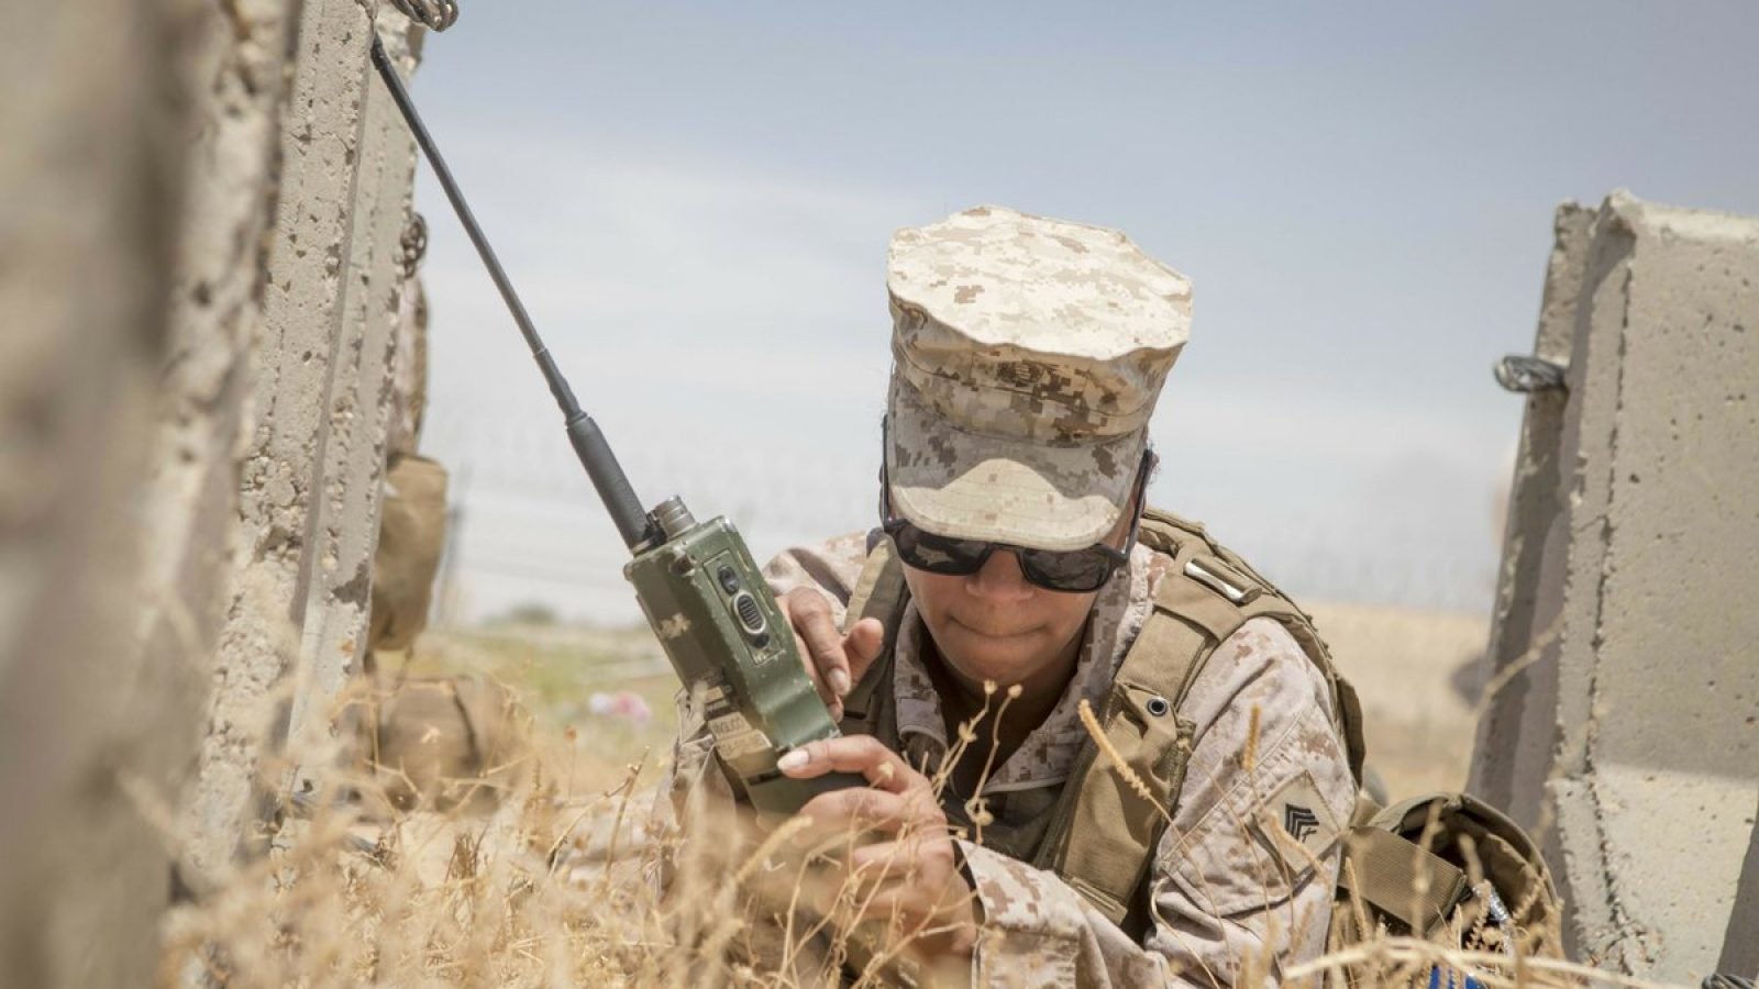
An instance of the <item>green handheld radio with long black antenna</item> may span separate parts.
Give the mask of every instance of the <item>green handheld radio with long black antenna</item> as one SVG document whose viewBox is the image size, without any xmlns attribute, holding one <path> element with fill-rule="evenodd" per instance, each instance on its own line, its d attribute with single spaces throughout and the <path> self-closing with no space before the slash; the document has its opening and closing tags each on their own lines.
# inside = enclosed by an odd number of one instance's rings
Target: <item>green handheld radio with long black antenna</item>
<svg viewBox="0 0 1759 989">
<path fill-rule="evenodd" d="M 839 732 L 800 663 L 793 628 L 776 605 L 746 540 L 721 516 L 698 523 L 677 498 L 665 500 L 653 512 L 642 510 L 605 435 L 580 410 L 556 359 L 538 338 L 376 33 L 371 53 L 556 396 L 575 456 L 635 554 L 623 574 L 635 584 L 635 598 L 672 669 L 704 706 L 716 753 L 735 792 L 744 792 L 763 818 L 776 820 L 800 810 L 814 794 L 864 785 L 860 776 L 850 773 L 792 780 L 776 769 L 785 751 Z"/>
</svg>

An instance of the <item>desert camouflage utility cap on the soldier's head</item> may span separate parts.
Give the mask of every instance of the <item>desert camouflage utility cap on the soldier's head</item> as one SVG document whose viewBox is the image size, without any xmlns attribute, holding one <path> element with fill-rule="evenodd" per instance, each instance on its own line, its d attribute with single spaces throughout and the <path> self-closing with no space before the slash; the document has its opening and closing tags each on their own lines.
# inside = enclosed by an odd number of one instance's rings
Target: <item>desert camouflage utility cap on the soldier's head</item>
<svg viewBox="0 0 1759 989">
<path fill-rule="evenodd" d="M 899 231 L 887 289 L 894 509 L 1041 549 L 1112 531 L 1191 283 L 1117 231 L 978 206 Z"/>
</svg>

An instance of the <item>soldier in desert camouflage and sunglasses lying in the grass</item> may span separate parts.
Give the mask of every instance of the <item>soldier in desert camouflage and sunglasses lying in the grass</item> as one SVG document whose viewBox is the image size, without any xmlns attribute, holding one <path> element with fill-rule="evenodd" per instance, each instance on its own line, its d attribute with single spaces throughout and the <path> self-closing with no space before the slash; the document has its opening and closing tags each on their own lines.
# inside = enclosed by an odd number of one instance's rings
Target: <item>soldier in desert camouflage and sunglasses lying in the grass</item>
<svg viewBox="0 0 1759 989">
<path fill-rule="evenodd" d="M 783 758 L 792 776 L 871 783 L 802 813 L 878 831 L 844 862 L 885 871 L 865 917 L 929 931 L 918 947 L 978 984 L 1274 982 L 1325 945 L 1354 801 L 1325 676 L 1277 621 L 1242 625 L 1186 693 L 1193 746 L 1140 931 L 1029 864 L 1087 741 L 1080 702 L 1099 707 L 1175 579 L 1133 535 L 1189 283 L 1122 234 L 1001 208 L 901 231 L 888 267 L 885 524 L 767 568 L 834 716 L 864 674 L 887 678 L 887 716 L 855 725 L 872 734 L 844 722 L 846 737 Z M 908 604 L 895 628 L 851 623 L 887 535 Z M 725 794 L 700 722 L 682 739 L 674 792 Z M 1277 827 L 1289 808 L 1305 815 L 1298 838 Z"/>
</svg>

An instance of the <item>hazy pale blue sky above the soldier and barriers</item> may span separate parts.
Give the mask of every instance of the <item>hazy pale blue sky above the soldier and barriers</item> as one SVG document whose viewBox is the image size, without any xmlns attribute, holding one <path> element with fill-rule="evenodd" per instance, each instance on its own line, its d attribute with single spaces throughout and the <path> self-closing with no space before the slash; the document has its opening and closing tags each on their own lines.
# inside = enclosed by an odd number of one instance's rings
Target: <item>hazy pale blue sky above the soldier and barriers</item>
<svg viewBox="0 0 1759 989">
<path fill-rule="evenodd" d="M 1485 609 L 1551 209 L 1759 213 L 1754 4 L 487 4 L 413 84 L 646 502 L 869 524 L 895 227 L 1001 202 L 1194 283 L 1152 498 L 1307 597 Z M 431 178 L 468 609 L 635 621 Z"/>
</svg>

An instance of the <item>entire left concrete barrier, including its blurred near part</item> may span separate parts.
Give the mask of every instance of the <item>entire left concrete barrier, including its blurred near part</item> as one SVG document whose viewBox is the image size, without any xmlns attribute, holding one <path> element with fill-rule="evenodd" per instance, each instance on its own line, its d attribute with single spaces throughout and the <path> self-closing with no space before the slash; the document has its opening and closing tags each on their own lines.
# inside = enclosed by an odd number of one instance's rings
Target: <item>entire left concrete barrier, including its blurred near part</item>
<svg viewBox="0 0 1759 989">
<path fill-rule="evenodd" d="M 7 985 L 153 982 L 165 908 L 229 876 L 290 718 L 325 734 L 359 669 L 408 391 L 376 7 L 0 11 Z"/>
</svg>

